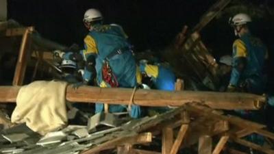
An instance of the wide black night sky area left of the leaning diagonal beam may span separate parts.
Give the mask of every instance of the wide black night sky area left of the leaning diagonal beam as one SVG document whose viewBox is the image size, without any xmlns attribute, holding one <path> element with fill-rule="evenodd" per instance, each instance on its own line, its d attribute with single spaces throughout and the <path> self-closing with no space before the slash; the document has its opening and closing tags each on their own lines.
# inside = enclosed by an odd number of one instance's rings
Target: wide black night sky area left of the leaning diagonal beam
<svg viewBox="0 0 274 154">
<path fill-rule="evenodd" d="M 190 27 L 215 1 L 144 0 L 9 0 L 8 17 L 34 25 L 43 37 L 62 44 L 82 44 L 82 23 L 88 8 L 101 10 L 105 23 L 123 26 L 137 49 L 158 49 L 169 44 L 187 24 Z"/>
</svg>

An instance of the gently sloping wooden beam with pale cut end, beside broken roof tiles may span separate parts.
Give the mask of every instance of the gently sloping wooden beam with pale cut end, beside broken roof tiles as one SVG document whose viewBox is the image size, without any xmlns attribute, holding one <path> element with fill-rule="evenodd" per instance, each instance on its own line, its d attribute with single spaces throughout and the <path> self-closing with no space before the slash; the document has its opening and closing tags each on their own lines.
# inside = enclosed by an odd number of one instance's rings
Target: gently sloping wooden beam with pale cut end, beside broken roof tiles
<svg viewBox="0 0 274 154">
<path fill-rule="evenodd" d="M 110 140 L 103 144 L 99 144 L 98 146 L 95 146 L 92 149 L 88 149 L 87 151 L 84 151 L 82 154 L 93 154 L 93 153 L 97 153 L 99 151 L 113 149 L 116 146 L 121 146 L 121 145 L 125 145 L 125 144 L 147 143 L 147 142 L 151 142 L 151 140 L 152 140 L 151 133 L 141 133 L 136 136 L 127 136 L 127 137 L 116 138 L 114 140 Z"/>
</svg>

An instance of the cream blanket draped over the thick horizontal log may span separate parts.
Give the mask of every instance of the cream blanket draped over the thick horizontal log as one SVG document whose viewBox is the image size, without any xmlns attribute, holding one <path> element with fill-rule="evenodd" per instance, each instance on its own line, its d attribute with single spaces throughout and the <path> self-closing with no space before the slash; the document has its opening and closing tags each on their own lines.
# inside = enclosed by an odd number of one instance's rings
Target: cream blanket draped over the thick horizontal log
<svg viewBox="0 0 274 154">
<path fill-rule="evenodd" d="M 61 81 L 34 81 L 23 86 L 16 98 L 12 123 L 26 123 L 41 135 L 65 127 L 66 85 Z"/>
</svg>

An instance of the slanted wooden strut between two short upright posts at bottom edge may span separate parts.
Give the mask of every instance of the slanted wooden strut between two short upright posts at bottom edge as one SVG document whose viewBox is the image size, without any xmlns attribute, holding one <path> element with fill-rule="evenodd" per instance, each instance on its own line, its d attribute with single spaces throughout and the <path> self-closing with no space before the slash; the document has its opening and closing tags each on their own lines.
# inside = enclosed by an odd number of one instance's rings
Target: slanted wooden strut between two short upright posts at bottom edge
<svg viewBox="0 0 274 154">
<path fill-rule="evenodd" d="M 173 146 L 171 148 L 170 154 L 176 154 L 179 150 L 179 146 L 181 146 L 184 136 L 186 135 L 186 131 L 188 130 L 188 124 L 183 124 L 179 129 L 177 138 L 175 139 Z"/>
</svg>

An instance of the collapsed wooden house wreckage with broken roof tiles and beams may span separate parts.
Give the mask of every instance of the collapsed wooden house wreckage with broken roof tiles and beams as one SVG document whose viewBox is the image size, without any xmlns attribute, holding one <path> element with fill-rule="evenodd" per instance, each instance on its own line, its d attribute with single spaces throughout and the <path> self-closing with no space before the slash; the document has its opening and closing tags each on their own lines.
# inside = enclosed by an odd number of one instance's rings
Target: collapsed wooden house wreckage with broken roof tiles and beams
<svg viewBox="0 0 274 154">
<path fill-rule="evenodd" d="M 70 103 L 101 102 L 105 105 L 168 106 L 171 108 L 168 112 L 140 119 L 129 119 L 127 116 L 109 113 L 95 114 L 86 117 L 88 120 L 86 125 L 68 125 L 43 133 L 34 131 L 24 123 L 13 126 L 3 114 L 2 119 L 6 127 L 10 128 L 1 131 L 1 153 L 173 154 L 184 151 L 184 153 L 217 154 L 244 153 L 241 150 L 247 151 L 245 148 L 248 151 L 250 148 L 262 153 L 274 153 L 272 144 L 274 134 L 267 131 L 265 125 L 225 112 L 225 110 L 260 110 L 266 103 L 264 96 L 188 90 L 190 81 L 202 84 L 210 90 L 215 90 L 218 85 L 217 64 L 201 41 L 199 31 L 228 3 L 229 1 L 222 0 L 214 4 L 190 33 L 187 33 L 187 27 L 184 27 L 178 34 L 175 44 L 167 49 L 174 53 L 169 54 L 171 57 L 167 57 L 171 66 L 178 64 L 186 66 L 182 70 L 175 68 L 177 76 L 183 79 L 186 75 L 195 77 L 184 81 L 177 80 L 175 91 L 93 86 L 83 86 L 75 90 L 72 86 L 65 86 L 62 95 L 64 98 L 61 98 Z M 64 50 L 67 47 L 40 37 L 34 27 L 22 27 L 14 21 L 1 24 L 0 32 L 3 35 L 0 42 L 3 51 L 19 51 L 13 86 L 0 86 L 0 102 L 9 105 L 18 103 L 16 99 L 21 86 L 35 81 L 38 71 L 57 75 L 58 66 L 54 64 L 50 51 Z M 14 49 L 10 48 L 10 43 L 14 44 L 12 46 Z M 33 69 L 33 74 L 30 79 L 26 79 L 29 78 L 25 77 L 29 66 Z M 50 92 L 42 92 L 46 97 L 51 97 Z M 35 104 L 33 107 L 35 108 Z M 77 110 L 73 107 L 69 109 Z M 36 123 L 42 122 L 36 121 Z M 261 146 L 247 140 L 246 137 L 253 133 L 264 136 L 268 145 Z M 238 144 L 240 149 L 234 144 Z"/>
</svg>

